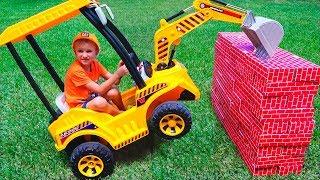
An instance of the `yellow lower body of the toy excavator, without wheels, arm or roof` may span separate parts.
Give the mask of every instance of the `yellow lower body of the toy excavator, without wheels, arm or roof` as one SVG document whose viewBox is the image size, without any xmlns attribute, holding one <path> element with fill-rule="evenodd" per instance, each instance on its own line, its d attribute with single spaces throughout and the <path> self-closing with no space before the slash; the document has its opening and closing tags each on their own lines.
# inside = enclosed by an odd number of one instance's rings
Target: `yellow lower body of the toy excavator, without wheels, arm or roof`
<svg viewBox="0 0 320 180">
<path fill-rule="evenodd" d="M 174 62 L 174 67 L 154 72 L 143 89 L 133 87 L 125 91 L 122 98 L 127 110 L 117 116 L 83 108 L 73 108 L 62 114 L 49 126 L 56 149 L 63 150 L 75 138 L 86 135 L 100 137 L 115 150 L 120 149 L 149 134 L 147 121 L 161 103 L 178 100 L 184 90 L 199 99 L 200 92 L 187 69 Z"/>
</svg>

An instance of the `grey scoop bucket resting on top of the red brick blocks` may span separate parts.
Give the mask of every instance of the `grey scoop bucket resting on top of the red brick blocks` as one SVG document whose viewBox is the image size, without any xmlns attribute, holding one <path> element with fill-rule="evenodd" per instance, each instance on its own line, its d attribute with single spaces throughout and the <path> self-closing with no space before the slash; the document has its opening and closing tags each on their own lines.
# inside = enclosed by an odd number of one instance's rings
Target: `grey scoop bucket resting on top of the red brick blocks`
<svg viewBox="0 0 320 180">
<path fill-rule="evenodd" d="M 267 59 L 274 54 L 284 35 L 279 22 L 264 17 L 254 17 L 251 11 L 247 13 L 241 28 L 256 47 L 255 55 L 261 59 Z"/>
</svg>

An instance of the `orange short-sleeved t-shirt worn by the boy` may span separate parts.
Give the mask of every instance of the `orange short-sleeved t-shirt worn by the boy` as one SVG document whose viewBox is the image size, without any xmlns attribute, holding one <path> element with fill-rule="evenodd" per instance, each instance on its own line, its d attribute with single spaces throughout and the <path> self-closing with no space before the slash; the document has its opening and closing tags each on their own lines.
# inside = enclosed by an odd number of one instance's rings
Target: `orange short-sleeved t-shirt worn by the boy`
<svg viewBox="0 0 320 180">
<path fill-rule="evenodd" d="M 91 81 L 97 82 L 99 77 L 108 73 L 97 60 L 90 64 L 90 72 L 85 71 L 80 62 L 75 62 L 70 66 L 65 77 L 64 94 L 66 102 L 70 107 L 76 107 L 85 102 L 92 93 L 84 85 Z"/>
</svg>

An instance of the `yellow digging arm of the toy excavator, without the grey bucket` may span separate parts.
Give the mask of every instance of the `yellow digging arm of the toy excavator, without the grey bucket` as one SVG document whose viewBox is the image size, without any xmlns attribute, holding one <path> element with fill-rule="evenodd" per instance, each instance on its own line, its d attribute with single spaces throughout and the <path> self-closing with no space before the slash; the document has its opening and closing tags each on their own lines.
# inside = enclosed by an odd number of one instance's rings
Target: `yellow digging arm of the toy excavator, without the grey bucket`
<svg viewBox="0 0 320 180">
<path fill-rule="evenodd" d="M 174 22 L 160 20 L 160 28 L 154 35 L 155 64 L 167 65 L 172 44 L 178 45 L 180 39 L 190 31 L 209 20 L 219 20 L 242 24 L 246 17 L 246 11 L 232 5 L 213 3 L 210 0 L 195 0 L 193 2 L 194 13 L 184 16 Z"/>
</svg>

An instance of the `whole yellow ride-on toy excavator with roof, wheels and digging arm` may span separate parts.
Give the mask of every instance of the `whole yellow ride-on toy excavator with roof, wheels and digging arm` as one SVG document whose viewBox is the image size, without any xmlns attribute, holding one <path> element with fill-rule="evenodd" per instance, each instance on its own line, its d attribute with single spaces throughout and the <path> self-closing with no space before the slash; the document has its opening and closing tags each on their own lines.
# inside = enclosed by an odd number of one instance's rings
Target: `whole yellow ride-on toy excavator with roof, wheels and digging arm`
<svg viewBox="0 0 320 180">
<path fill-rule="evenodd" d="M 187 8 L 160 21 L 154 36 L 155 61 L 140 61 L 129 42 L 113 25 L 95 0 L 69 0 L 8 27 L 0 35 L 23 74 L 52 115 L 49 132 L 58 151 L 71 153 L 72 170 L 80 178 L 99 178 L 114 169 L 112 150 L 118 150 L 149 134 L 176 139 L 191 128 L 191 114 L 179 101 L 196 100 L 200 92 L 183 64 L 173 59 L 180 39 L 209 20 L 242 24 L 243 31 L 256 46 L 261 59 L 271 56 L 281 41 L 283 30 L 276 21 L 257 17 L 250 11 L 220 1 L 195 0 Z M 110 8 L 107 8 L 113 16 Z M 173 19 L 194 9 L 180 19 Z M 127 110 L 111 116 L 90 109 L 69 108 L 61 93 L 55 111 L 24 65 L 13 43 L 27 39 L 39 59 L 63 92 L 64 84 L 51 66 L 34 36 L 82 13 L 107 39 L 134 80 L 135 85 L 122 93 Z M 273 35 L 270 34 L 272 31 Z"/>
</svg>

